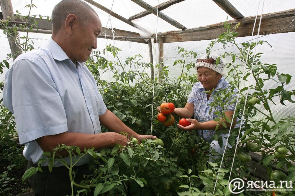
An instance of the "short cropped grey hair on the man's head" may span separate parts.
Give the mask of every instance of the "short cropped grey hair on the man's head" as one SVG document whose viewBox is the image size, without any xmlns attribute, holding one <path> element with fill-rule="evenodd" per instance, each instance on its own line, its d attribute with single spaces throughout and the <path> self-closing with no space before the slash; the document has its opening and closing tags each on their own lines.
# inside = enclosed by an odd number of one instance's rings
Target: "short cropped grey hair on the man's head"
<svg viewBox="0 0 295 196">
<path fill-rule="evenodd" d="M 93 13 L 96 14 L 96 11 L 85 1 L 62 0 L 54 6 L 51 14 L 52 31 L 59 31 L 69 14 L 75 14 L 82 24 L 87 24 L 89 15 Z"/>
</svg>

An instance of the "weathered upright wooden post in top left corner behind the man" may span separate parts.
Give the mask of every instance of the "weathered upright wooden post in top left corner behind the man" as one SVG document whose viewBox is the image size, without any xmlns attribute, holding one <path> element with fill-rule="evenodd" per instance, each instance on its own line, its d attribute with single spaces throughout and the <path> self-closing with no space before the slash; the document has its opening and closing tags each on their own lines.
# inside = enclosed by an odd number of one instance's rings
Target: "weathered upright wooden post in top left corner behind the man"
<svg viewBox="0 0 295 196">
<path fill-rule="evenodd" d="M 13 9 L 12 9 L 12 4 L 10 0 L 1 0 L 0 1 L 0 6 L 3 14 L 3 19 L 4 20 L 9 20 L 9 21 L 15 21 L 14 14 L 13 14 Z M 8 35 L 8 42 L 10 46 L 10 50 L 12 53 L 12 59 L 14 60 L 19 56 L 22 51 L 20 51 L 20 48 L 17 46 L 16 41 L 18 39 L 18 33 L 11 33 L 12 36 Z"/>
</svg>

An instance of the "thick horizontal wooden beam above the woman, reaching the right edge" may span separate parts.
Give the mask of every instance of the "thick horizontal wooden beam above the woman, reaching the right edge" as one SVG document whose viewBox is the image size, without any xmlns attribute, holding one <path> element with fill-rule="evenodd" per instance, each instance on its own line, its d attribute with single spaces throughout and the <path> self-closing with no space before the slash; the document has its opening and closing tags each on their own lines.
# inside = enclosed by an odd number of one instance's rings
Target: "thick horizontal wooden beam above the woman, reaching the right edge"
<svg viewBox="0 0 295 196">
<path fill-rule="evenodd" d="M 295 9 L 263 14 L 260 26 L 260 35 L 266 35 L 269 33 L 295 32 L 295 26 L 290 25 L 290 23 L 294 19 L 294 15 Z M 257 35 L 259 20 L 260 16 L 257 17 L 254 35 Z M 231 20 L 228 21 L 228 23 L 232 24 L 232 26 L 240 23 L 240 27 L 235 31 L 239 33 L 238 37 L 245 37 L 252 35 L 254 21 L 255 16 L 250 16 L 242 19 Z M 289 28 L 286 28 L 288 26 Z M 192 29 L 158 33 L 157 36 L 164 36 L 164 43 L 171 43 L 181 41 L 211 40 L 218 38 L 219 35 L 223 32 L 224 24 L 222 22 Z"/>
</svg>

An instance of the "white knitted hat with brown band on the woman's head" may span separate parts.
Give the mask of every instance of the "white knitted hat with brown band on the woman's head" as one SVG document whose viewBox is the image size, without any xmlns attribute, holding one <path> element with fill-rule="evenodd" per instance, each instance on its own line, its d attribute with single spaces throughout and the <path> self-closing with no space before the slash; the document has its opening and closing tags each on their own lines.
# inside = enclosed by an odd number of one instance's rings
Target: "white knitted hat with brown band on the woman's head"
<svg viewBox="0 0 295 196">
<path fill-rule="evenodd" d="M 216 60 L 218 57 L 219 56 L 217 56 L 217 54 L 209 54 L 209 58 L 207 58 L 207 55 L 202 56 L 201 58 L 197 59 L 195 69 L 198 70 L 199 67 L 207 67 L 220 73 L 222 76 L 226 76 L 226 74 L 223 72 L 224 64 L 221 58 L 219 58 L 219 64 L 216 65 Z M 210 61 L 210 58 L 214 59 L 214 61 Z"/>
</svg>

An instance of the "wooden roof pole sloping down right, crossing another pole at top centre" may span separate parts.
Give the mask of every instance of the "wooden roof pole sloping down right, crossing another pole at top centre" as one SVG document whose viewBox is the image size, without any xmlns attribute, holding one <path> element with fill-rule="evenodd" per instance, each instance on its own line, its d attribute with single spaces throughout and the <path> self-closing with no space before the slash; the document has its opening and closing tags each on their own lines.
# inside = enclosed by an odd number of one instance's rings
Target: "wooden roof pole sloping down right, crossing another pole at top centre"
<svg viewBox="0 0 295 196">
<path fill-rule="evenodd" d="M 131 0 L 134 3 L 136 3 L 137 5 L 143 7 L 144 9 L 150 11 L 152 14 L 155 14 L 157 16 L 157 9 L 153 8 L 152 6 L 150 6 L 149 4 L 145 3 L 142 0 Z M 158 17 L 163 19 L 164 21 L 168 22 L 169 24 L 175 26 L 178 29 L 186 29 L 185 26 L 183 26 L 182 24 L 178 23 L 176 20 L 171 19 L 169 16 L 167 16 L 166 14 L 163 14 L 162 12 L 158 11 Z"/>
</svg>

